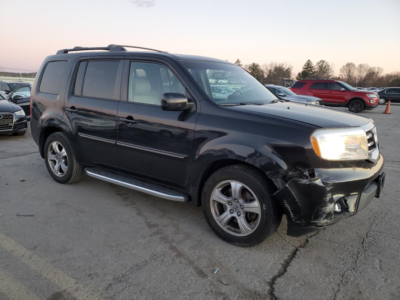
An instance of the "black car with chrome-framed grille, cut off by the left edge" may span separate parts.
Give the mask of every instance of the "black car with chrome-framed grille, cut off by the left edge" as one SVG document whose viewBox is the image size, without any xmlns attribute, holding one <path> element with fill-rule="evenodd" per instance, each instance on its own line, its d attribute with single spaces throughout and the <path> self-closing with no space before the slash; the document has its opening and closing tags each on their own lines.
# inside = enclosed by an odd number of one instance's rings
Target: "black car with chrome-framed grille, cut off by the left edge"
<svg viewBox="0 0 400 300">
<path fill-rule="evenodd" d="M 24 110 L 0 95 L 0 133 L 23 136 L 28 129 Z"/>
</svg>

